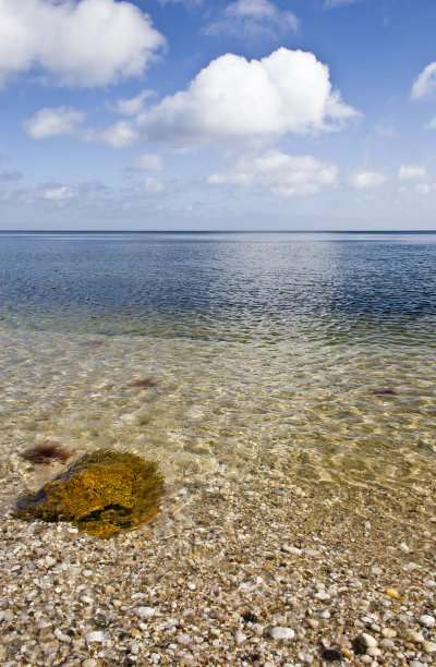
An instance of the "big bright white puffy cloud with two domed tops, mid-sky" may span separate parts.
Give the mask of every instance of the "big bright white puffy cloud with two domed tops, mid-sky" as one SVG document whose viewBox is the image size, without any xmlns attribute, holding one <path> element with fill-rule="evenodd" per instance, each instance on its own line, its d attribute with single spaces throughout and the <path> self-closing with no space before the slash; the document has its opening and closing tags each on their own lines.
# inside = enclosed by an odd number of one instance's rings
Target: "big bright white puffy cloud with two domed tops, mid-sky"
<svg viewBox="0 0 436 667">
<path fill-rule="evenodd" d="M 214 140 L 332 131 L 356 117 L 332 89 L 326 64 L 311 52 L 280 48 L 262 60 L 217 58 L 186 90 L 140 114 L 137 128 L 148 140 L 189 148 Z"/>
</svg>

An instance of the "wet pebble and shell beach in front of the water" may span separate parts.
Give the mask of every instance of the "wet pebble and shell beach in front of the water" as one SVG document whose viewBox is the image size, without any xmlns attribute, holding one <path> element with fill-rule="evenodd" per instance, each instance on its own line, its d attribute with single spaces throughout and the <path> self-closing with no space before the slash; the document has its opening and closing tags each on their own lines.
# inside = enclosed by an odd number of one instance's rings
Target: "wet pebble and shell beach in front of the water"
<svg viewBox="0 0 436 667">
<path fill-rule="evenodd" d="M 431 489 L 221 472 L 169 488 L 152 524 L 100 541 L 12 519 L 12 487 L 2 500 L 1 665 L 436 659 Z"/>
</svg>

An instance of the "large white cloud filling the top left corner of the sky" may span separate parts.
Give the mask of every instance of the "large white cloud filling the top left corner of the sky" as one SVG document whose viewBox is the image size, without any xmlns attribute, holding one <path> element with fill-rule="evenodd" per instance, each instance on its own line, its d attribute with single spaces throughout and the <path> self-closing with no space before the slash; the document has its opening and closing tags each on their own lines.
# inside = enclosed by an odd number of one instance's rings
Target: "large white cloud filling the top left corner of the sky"
<svg viewBox="0 0 436 667">
<path fill-rule="evenodd" d="M 132 2 L 0 0 L 0 84 L 28 71 L 66 86 L 113 84 L 141 75 L 164 45 Z"/>
</svg>

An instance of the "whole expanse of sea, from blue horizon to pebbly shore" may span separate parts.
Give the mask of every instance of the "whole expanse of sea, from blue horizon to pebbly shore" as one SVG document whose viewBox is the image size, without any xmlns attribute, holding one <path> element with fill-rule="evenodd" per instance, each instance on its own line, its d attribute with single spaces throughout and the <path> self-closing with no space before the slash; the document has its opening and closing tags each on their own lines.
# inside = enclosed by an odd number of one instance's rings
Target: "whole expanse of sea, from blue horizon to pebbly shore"
<svg viewBox="0 0 436 667">
<path fill-rule="evenodd" d="M 3 477 L 50 439 L 403 511 L 435 490 L 435 267 L 432 234 L 0 234 Z"/>
</svg>

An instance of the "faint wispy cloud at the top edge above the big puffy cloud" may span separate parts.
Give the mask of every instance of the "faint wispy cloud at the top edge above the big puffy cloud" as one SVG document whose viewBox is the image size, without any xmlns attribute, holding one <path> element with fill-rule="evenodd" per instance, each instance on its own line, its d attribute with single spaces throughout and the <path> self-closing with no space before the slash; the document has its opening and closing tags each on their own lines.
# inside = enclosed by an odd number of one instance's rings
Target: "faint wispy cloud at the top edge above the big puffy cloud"
<svg viewBox="0 0 436 667">
<path fill-rule="evenodd" d="M 237 0 L 228 4 L 218 19 L 209 23 L 204 33 L 263 33 L 292 29 L 296 31 L 299 20 L 290 11 L 279 10 L 270 0 Z"/>
</svg>

